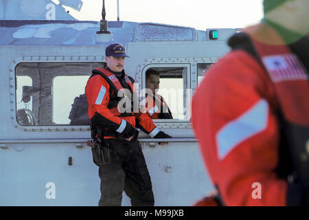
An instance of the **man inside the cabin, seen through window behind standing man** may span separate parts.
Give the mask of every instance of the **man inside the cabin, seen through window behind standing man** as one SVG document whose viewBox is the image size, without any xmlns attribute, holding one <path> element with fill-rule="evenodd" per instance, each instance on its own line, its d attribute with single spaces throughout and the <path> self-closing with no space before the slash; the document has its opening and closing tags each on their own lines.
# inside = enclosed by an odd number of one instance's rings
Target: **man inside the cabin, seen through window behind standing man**
<svg viewBox="0 0 309 220">
<path fill-rule="evenodd" d="M 155 69 L 146 70 L 145 111 L 152 119 L 172 119 L 172 113 L 164 98 L 158 94 L 160 73 Z"/>
</svg>

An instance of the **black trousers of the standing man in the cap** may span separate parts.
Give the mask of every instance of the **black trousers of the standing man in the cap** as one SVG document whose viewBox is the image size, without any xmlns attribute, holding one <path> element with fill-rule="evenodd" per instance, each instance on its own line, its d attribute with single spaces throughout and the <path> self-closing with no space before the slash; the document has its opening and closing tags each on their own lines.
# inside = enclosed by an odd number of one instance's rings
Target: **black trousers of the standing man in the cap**
<svg viewBox="0 0 309 220">
<path fill-rule="evenodd" d="M 121 206 L 122 192 L 132 206 L 154 206 L 155 198 L 146 161 L 137 140 L 107 140 L 111 163 L 100 166 L 99 206 Z"/>
</svg>

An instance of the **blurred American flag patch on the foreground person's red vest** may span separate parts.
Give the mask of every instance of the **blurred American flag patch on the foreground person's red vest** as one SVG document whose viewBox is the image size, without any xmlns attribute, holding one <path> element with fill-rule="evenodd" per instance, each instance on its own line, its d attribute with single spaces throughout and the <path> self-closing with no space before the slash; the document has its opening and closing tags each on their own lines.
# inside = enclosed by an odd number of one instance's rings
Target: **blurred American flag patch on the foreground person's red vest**
<svg viewBox="0 0 309 220">
<path fill-rule="evenodd" d="M 308 74 L 295 54 L 264 56 L 263 63 L 274 83 L 285 80 L 308 80 Z"/>
</svg>

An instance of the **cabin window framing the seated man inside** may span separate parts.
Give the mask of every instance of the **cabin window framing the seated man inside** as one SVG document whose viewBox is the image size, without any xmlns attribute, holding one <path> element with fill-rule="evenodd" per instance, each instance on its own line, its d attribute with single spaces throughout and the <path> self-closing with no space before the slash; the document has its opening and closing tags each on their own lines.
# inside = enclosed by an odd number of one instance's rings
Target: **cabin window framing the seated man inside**
<svg viewBox="0 0 309 220">
<path fill-rule="evenodd" d="M 145 92 L 140 92 L 141 104 L 145 105 L 145 102 L 150 102 L 151 99 L 145 97 L 148 96 L 148 93 L 152 93 L 153 98 L 155 92 L 155 97 L 163 98 L 164 106 L 167 105 L 167 107 L 161 109 L 158 107 L 160 102 L 157 102 L 157 104 L 153 102 L 150 107 L 147 105 L 146 112 L 148 112 L 150 118 L 153 120 L 190 120 L 190 111 L 187 109 L 188 106 L 190 107 L 188 69 L 190 70 L 190 65 L 148 65 L 144 68 L 142 91 Z M 148 76 L 149 73 L 150 76 Z M 159 77 L 154 77 L 155 73 L 159 73 Z M 156 91 L 151 90 L 149 87 L 157 83 L 158 79 L 159 89 L 156 89 L 156 85 L 154 87 Z M 170 118 L 170 115 L 172 115 L 172 118 Z"/>
</svg>

